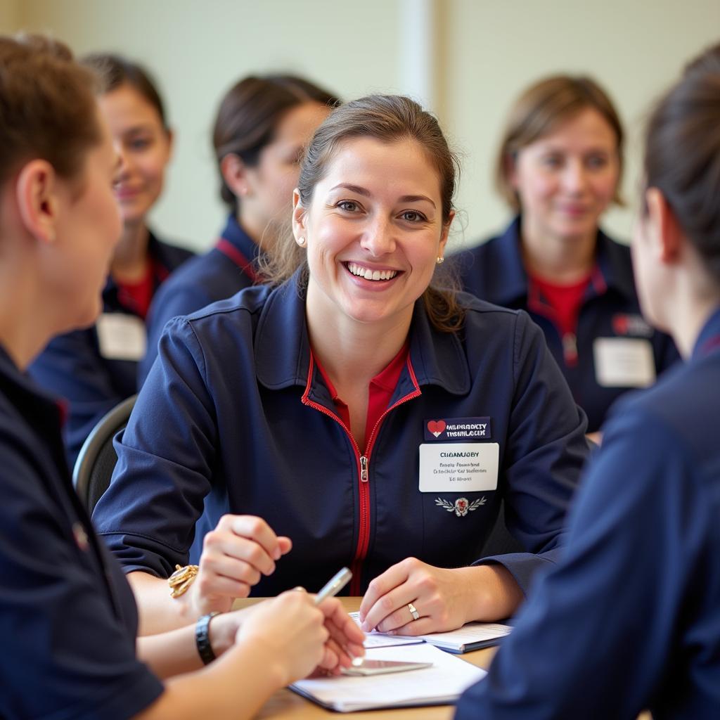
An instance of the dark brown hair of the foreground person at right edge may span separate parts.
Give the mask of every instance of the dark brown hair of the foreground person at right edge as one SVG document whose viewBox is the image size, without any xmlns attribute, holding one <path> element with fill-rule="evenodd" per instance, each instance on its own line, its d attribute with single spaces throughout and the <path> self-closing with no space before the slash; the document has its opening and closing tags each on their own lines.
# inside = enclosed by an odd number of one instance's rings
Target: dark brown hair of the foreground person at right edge
<svg viewBox="0 0 720 720">
<path fill-rule="evenodd" d="M 720 284 L 720 44 L 690 63 L 652 112 L 644 175 Z"/>
</svg>

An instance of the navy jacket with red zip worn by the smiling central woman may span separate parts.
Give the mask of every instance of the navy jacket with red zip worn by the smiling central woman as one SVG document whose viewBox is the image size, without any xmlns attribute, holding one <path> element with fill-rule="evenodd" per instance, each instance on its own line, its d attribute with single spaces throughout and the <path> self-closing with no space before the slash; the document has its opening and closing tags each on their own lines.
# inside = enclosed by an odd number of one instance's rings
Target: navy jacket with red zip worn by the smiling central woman
<svg viewBox="0 0 720 720">
<path fill-rule="evenodd" d="M 526 588 L 556 552 L 587 456 L 585 415 L 525 313 L 462 302 L 462 335 L 434 330 L 416 303 L 408 364 L 368 441 L 366 482 L 365 456 L 311 360 L 297 279 L 172 320 L 94 512 L 125 570 L 166 577 L 197 559 L 197 546 L 189 551 L 203 510 L 199 535 L 230 511 L 261 516 L 293 541 L 256 595 L 317 590 L 343 565 L 359 594 L 406 557 L 444 567 L 479 559 L 504 497 L 528 552 L 498 562 Z M 420 444 L 448 441 L 428 423 L 477 417 L 490 418 L 486 441 L 499 444 L 498 490 L 420 492 Z M 463 497 L 471 511 L 448 511 Z"/>
</svg>

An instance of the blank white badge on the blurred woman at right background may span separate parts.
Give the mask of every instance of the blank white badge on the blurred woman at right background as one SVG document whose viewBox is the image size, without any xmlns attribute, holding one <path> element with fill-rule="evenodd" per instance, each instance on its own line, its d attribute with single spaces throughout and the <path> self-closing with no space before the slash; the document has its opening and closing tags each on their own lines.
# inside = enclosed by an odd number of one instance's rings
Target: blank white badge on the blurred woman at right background
<svg viewBox="0 0 720 720">
<path fill-rule="evenodd" d="M 652 345 L 642 338 L 597 338 L 595 379 L 602 387 L 647 387 L 655 382 Z"/>
</svg>

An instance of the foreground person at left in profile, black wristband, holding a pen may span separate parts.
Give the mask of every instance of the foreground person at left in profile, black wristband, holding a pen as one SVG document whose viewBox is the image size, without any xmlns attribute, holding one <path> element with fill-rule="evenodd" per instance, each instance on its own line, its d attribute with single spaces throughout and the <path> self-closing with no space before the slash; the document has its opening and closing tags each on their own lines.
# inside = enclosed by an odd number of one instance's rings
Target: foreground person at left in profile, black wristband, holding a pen
<svg viewBox="0 0 720 720">
<path fill-rule="evenodd" d="M 93 85 L 63 45 L 0 37 L 0 716 L 248 718 L 318 663 L 348 665 L 356 625 L 338 600 L 287 593 L 136 656 L 132 591 L 73 491 L 60 409 L 23 372 L 94 320 L 121 232 Z"/>
</svg>

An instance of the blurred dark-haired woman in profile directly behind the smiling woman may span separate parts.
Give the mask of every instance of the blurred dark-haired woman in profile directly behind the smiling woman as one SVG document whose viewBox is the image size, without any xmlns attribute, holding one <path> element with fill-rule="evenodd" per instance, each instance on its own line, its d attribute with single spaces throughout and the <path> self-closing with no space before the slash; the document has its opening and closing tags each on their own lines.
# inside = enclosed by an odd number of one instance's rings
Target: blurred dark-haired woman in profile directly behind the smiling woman
<svg viewBox="0 0 720 720">
<path fill-rule="evenodd" d="M 220 103 L 212 133 L 220 196 L 230 215 L 215 247 L 160 289 L 148 315 L 142 384 L 158 354 L 165 323 L 224 300 L 258 279 L 258 254 L 287 233 L 292 191 L 305 145 L 338 99 L 304 78 L 249 76 Z"/>
</svg>

